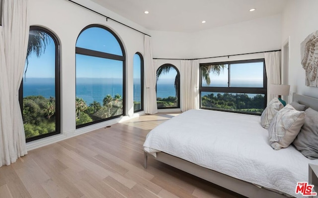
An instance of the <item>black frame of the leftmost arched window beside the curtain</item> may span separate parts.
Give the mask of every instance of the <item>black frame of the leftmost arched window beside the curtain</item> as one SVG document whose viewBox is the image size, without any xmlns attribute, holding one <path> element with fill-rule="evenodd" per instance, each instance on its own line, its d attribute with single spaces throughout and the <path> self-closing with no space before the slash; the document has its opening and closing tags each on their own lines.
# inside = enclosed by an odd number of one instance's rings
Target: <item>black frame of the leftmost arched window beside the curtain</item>
<svg viewBox="0 0 318 198">
<path fill-rule="evenodd" d="M 55 43 L 55 132 L 50 132 L 47 134 L 42 134 L 39 136 L 34 136 L 31 138 L 26 138 L 26 142 L 31 142 L 34 140 L 39 140 L 49 136 L 61 134 L 61 45 L 58 37 L 50 30 L 40 27 L 40 26 L 30 26 L 30 31 L 42 31 L 50 35 Z M 23 79 L 19 88 L 19 103 L 21 113 L 23 112 Z M 23 115 L 23 114 L 22 114 Z"/>
</svg>

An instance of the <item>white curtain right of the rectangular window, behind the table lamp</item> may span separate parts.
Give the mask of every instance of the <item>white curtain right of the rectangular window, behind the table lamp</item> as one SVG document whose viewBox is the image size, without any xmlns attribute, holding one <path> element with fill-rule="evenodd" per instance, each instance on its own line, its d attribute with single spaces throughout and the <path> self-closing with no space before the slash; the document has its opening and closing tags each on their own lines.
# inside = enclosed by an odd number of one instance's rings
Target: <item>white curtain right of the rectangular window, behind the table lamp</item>
<svg viewBox="0 0 318 198">
<path fill-rule="evenodd" d="M 270 94 L 270 84 L 280 84 L 281 83 L 281 52 L 271 51 L 264 53 L 266 76 L 267 76 L 267 103 L 274 98 Z"/>
</svg>

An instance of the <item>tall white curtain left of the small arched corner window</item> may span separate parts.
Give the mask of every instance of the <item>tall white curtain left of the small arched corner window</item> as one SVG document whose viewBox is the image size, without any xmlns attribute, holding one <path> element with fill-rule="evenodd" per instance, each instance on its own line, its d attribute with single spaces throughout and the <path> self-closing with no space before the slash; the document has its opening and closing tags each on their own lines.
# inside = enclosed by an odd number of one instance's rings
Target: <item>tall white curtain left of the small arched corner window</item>
<svg viewBox="0 0 318 198">
<path fill-rule="evenodd" d="M 158 112 L 156 98 L 156 71 L 153 63 L 153 53 L 150 36 L 144 38 L 144 78 L 145 78 L 145 113 L 155 114 Z"/>
</svg>

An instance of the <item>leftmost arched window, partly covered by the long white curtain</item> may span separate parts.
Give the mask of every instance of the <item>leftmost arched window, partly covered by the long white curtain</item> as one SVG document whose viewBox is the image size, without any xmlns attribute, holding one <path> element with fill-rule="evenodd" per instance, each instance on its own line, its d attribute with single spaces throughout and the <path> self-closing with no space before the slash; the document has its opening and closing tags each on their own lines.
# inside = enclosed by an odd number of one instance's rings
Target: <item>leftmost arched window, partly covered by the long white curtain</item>
<svg viewBox="0 0 318 198">
<path fill-rule="evenodd" d="M 31 26 L 19 93 L 26 142 L 60 133 L 59 57 L 57 37 Z"/>
</svg>

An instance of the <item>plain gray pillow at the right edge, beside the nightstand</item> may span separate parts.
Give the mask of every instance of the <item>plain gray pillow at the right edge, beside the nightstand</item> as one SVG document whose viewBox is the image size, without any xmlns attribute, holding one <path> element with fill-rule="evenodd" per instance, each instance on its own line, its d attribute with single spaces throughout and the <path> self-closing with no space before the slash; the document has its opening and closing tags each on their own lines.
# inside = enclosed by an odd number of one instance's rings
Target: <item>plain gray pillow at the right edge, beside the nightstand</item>
<svg viewBox="0 0 318 198">
<path fill-rule="evenodd" d="M 294 140 L 294 146 L 309 159 L 318 158 L 318 111 L 308 108 L 305 123 Z"/>
</svg>

